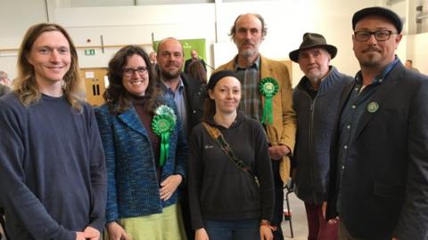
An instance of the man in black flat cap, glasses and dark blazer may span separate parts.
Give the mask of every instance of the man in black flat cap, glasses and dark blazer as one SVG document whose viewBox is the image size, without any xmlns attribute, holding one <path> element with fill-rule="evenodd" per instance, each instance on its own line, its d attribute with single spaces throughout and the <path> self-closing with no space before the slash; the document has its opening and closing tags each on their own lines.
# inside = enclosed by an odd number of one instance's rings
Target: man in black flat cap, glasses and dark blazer
<svg viewBox="0 0 428 240">
<path fill-rule="evenodd" d="M 428 76 L 395 55 L 395 12 L 362 9 L 352 28 L 361 70 L 339 103 L 327 219 L 340 239 L 428 239 Z"/>
</svg>

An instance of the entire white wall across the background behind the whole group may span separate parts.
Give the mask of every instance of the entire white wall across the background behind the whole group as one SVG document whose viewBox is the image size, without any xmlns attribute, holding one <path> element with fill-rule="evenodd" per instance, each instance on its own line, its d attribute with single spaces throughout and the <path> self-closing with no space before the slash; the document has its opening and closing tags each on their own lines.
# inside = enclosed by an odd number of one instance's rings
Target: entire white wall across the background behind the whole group
<svg viewBox="0 0 428 240">
<path fill-rule="evenodd" d="M 363 7 L 382 4 L 382 1 L 217 1 L 216 4 L 64 7 L 66 4 L 65 0 L 48 0 L 49 20 L 68 29 L 79 47 L 81 68 L 106 67 L 111 55 L 123 44 L 143 44 L 150 49 L 152 35 L 154 40 L 167 36 L 205 38 L 208 63 L 218 66 L 236 54 L 235 44 L 227 36 L 236 16 L 243 12 L 258 12 L 268 26 L 268 36 L 260 47 L 262 54 L 286 60 L 288 53 L 299 47 L 305 32 L 317 32 L 339 49 L 333 65 L 353 76 L 358 70 L 358 62 L 352 52 L 352 14 Z M 45 1 L 1 0 L 0 8 L 11 10 L 0 15 L 0 69 L 16 76 L 16 49 L 30 25 L 47 20 Z M 106 46 L 104 52 L 99 47 L 101 36 Z M 418 62 L 426 62 L 428 58 L 416 50 L 411 52 L 407 45 L 423 45 L 426 37 L 408 38 L 399 46 L 399 57 L 402 60 L 412 58 L 416 61 L 416 67 L 423 69 Z M 88 39 L 90 43 L 87 43 Z M 85 56 L 85 48 L 95 48 L 95 56 Z M 302 76 L 297 64 L 293 65 L 292 72 L 297 83 Z"/>
</svg>

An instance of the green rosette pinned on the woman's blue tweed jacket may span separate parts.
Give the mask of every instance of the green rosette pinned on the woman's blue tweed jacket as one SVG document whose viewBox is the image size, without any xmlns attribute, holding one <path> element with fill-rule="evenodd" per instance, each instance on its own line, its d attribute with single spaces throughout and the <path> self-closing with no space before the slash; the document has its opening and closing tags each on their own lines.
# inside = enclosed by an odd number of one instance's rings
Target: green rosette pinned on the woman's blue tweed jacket
<svg viewBox="0 0 428 240">
<path fill-rule="evenodd" d="M 162 105 L 162 108 L 167 106 Z M 160 107 L 160 108 L 161 108 Z M 172 109 L 171 109 L 172 111 Z M 157 111 L 155 111 L 157 113 Z M 152 120 L 152 131 L 154 134 L 161 137 L 161 154 L 160 154 L 160 165 L 163 166 L 168 158 L 169 152 L 169 134 L 174 130 L 176 125 L 176 116 L 174 115 L 174 111 L 172 111 L 172 115 L 163 114 L 155 115 Z"/>
</svg>

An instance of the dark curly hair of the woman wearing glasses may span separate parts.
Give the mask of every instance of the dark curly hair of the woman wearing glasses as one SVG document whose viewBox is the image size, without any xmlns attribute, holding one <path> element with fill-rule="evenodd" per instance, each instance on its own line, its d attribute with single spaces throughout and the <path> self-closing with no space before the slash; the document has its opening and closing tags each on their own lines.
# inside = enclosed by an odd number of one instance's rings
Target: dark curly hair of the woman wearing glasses
<svg viewBox="0 0 428 240">
<path fill-rule="evenodd" d="M 103 94 L 103 98 L 109 106 L 109 110 L 114 115 L 119 115 L 125 112 L 132 106 L 131 93 L 122 84 L 123 67 L 128 63 L 128 57 L 137 54 L 143 58 L 147 71 L 149 73 L 149 84 L 145 91 L 145 96 L 148 97 L 144 108 L 152 111 L 157 106 L 157 98 L 160 94 L 159 84 L 156 81 L 155 73 L 152 69 L 150 58 L 144 50 L 136 45 L 128 45 L 122 47 L 119 52 L 114 54 L 109 62 L 107 75 L 109 76 L 109 86 Z"/>
</svg>

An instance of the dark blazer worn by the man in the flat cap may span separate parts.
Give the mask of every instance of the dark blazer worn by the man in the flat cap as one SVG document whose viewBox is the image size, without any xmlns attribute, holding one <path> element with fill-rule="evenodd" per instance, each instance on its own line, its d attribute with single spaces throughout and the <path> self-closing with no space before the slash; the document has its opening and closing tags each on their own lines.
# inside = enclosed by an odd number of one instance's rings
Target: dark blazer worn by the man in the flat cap
<svg viewBox="0 0 428 240">
<path fill-rule="evenodd" d="M 345 87 L 340 111 L 352 89 Z M 369 101 L 379 108 L 361 116 L 344 166 L 336 158 L 341 146 L 335 132 L 327 219 L 338 214 L 342 188 L 340 217 L 351 236 L 428 239 L 428 76 L 399 62 Z"/>
</svg>

